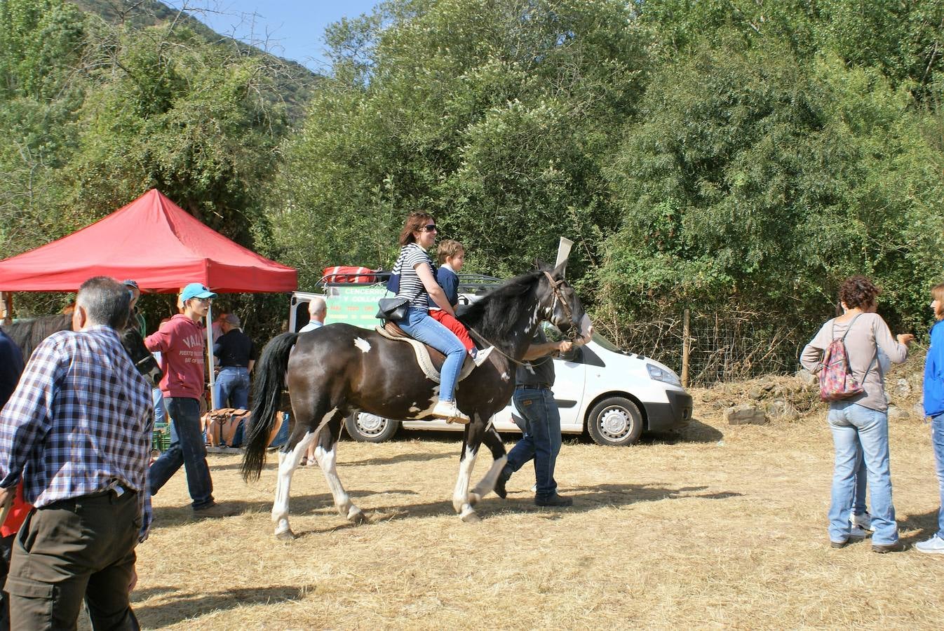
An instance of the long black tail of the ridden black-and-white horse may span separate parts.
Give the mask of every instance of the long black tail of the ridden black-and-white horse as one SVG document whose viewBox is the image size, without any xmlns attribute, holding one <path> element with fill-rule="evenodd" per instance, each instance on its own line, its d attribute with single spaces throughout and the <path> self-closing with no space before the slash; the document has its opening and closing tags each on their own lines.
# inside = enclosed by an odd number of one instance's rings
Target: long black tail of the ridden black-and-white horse
<svg viewBox="0 0 944 631">
<path fill-rule="evenodd" d="M 243 456 L 243 479 L 258 480 L 265 464 L 265 448 L 276 424 L 276 413 L 285 387 L 285 373 L 289 353 L 295 346 L 297 333 L 282 333 L 273 338 L 262 350 L 256 365 L 255 385 L 252 390 L 252 417 Z"/>
</svg>

